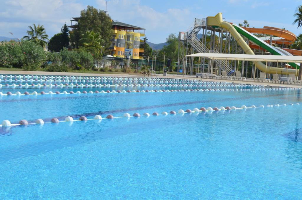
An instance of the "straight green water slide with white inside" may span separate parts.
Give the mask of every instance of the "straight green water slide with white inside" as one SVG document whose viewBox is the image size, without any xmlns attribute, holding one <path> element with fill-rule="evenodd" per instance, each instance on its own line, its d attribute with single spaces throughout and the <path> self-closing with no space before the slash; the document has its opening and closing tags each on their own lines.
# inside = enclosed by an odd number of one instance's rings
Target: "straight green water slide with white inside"
<svg viewBox="0 0 302 200">
<path fill-rule="evenodd" d="M 236 29 L 236 31 L 240 34 L 243 35 L 244 37 L 248 38 L 250 41 L 252 41 L 254 44 L 258 45 L 259 47 L 265 49 L 266 51 L 270 52 L 272 55 L 281 55 L 281 56 L 289 56 L 291 55 L 287 51 L 284 51 L 283 49 L 273 47 L 269 45 L 268 43 L 260 40 L 257 38 L 255 35 L 252 33 L 246 31 L 245 29 L 241 28 L 240 26 L 237 26 L 233 24 L 233 27 Z M 292 66 L 294 69 L 300 69 L 299 63 L 288 63 L 290 66 Z"/>
</svg>

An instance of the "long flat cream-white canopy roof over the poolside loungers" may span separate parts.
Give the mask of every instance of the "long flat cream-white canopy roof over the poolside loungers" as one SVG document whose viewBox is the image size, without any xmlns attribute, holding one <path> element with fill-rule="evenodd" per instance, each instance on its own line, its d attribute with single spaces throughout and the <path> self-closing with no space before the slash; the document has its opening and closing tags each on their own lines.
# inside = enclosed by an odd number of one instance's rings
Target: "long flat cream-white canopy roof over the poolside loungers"
<svg viewBox="0 0 302 200">
<path fill-rule="evenodd" d="M 187 57 L 206 57 L 213 60 L 246 60 L 267 62 L 302 63 L 302 56 L 275 56 L 275 55 L 250 55 L 250 54 L 216 54 L 198 53 L 186 55 Z"/>
</svg>

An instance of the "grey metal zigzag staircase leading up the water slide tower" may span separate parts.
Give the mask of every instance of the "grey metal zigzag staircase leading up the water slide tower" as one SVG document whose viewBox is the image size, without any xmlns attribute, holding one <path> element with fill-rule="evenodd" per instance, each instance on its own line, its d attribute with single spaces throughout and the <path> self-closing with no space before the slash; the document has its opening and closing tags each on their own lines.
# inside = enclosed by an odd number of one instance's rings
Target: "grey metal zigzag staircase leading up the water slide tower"
<svg viewBox="0 0 302 200">
<path fill-rule="evenodd" d="M 203 26 L 206 26 L 206 18 L 197 19 L 195 18 L 194 23 L 188 29 L 188 42 L 198 53 L 219 53 L 217 50 L 209 50 L 198 38 L 197 34 Z M 226 71 L 227 74 L 231 74 L 233 66 L 230 65 L 226 60 L 214 60 L 216 65 L 221 71 Z"/>
</svg>

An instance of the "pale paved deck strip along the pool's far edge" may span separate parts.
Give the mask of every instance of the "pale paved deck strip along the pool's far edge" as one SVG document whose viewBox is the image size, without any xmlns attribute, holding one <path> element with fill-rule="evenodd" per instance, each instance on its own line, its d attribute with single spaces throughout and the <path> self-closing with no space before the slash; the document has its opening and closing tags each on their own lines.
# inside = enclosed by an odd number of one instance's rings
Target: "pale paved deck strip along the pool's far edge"
<svg viewBox="0 0 302 200">
<path fill-rule="evenodd" d="M 143 74 L 132 75 L 132 74 L 92 74 L 92 73 L 76 73 L 76 72 L 40 72 L 40 71 L 2 71 L 0 70 L 0 74 L 28 74 L 28 75 L 64 75 L 64 76 L 105 76 L 105 77 L 137 77 L 137 78 L 148 78 L 148 76 L 144 76 Z M 154 76 L 153 76 L 154 77 Z M 151 78 L 151 75 L 149 75 Z M 268 82 L 258 82 L 254 81 L 251 78 L 247 78 L 246 81 L 239 80 L 226 80 L 226 79 L 207 79 L 207 78 L 196 78 L 195 75 L 176 75 L 176 74 L 168 74 L 167 76 L 163 76 L 163 74 L 157 74 L 157 78 L 185 78 L 185 79 L 196 79 L 203 81 L 226 81 L 226 82 L 234 82 L 237 84 L 263 84 L 270 85 L 276 87 L 294 87 L 294 88 L 302 88 L 302 85 L 297 84 L 280 84 L 280 83 L 268 83 Z"/>
</svg>

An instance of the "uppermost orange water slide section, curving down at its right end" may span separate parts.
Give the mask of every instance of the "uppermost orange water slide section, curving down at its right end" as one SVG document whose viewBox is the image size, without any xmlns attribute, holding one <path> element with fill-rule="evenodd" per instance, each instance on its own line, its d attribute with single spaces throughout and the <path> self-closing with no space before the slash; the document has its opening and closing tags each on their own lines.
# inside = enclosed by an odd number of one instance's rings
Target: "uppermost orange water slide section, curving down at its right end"
<svg viewBox="0 0 302 200">
<path fill-rule="evenodd" d="M 263 26 L 262 29 L 249 28 L 249 27 L 244 27 L 244 26 L 240 26 L 240 27 L 250 33 L 274 35 L 276 37 L 284 38 L 286 41 L 291 42 L 291 43 L 295 42 L 297 39 L 297 36 L 294 33 L 284 30 L 284 29 L 275 28 L 275 27 Z"/>
</svg>

